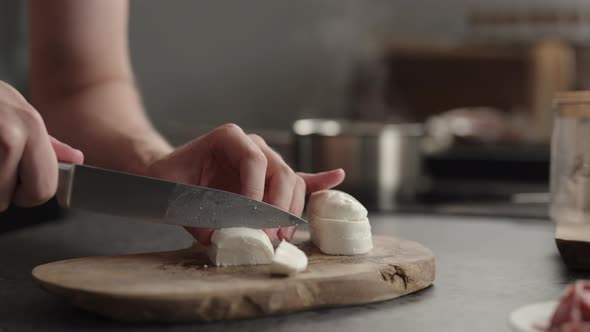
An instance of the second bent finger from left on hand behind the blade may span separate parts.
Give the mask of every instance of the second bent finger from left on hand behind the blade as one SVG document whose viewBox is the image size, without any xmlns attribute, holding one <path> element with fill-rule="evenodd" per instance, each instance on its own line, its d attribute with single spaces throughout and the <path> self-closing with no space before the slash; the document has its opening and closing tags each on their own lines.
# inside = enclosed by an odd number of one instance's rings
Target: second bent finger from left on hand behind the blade
<svg viewBox="0 0 590 332">
<path fill-rule="evenodd" d="M 260 136 L 254 134 L 248 136 L 260 148 L 268 161 L 266 170 L 268 188 L 266 189 L 264 201 L 289 211 L 293 199 L 293 190 L 298 178 L 297 175 Z"/>
</svg>

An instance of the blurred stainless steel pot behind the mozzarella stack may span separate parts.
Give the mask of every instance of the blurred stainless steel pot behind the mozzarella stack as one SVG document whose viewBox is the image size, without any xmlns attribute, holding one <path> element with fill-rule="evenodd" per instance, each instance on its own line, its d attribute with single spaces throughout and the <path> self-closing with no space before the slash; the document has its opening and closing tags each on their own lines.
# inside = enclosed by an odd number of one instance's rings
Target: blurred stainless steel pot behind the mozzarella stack
<svg viewBox="0 0 590 332">
<path fill-rule="evenodd" d="M 304 172 L 343 168 L 339 189 L 387 211 L 415 198 L 422 175 L 419 124 L 302 119 L 293 125 L 295 162 Z"/>
</svg>

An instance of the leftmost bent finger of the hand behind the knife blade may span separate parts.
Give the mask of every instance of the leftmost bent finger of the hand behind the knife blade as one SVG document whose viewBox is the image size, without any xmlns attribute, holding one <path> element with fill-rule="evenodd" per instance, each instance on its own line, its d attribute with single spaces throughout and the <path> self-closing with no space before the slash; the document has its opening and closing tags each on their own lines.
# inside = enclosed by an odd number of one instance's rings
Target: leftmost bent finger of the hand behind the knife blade
<svg viewBox="0 0 590 332">
<path fill-rule="evenodd" d="M 224 125 L 207 136 L 210 152 L 239 172 L 240 194 L 262 200 L 266 181 L 267 160 L 260 148 L 234 125 Z"/>
</svg>

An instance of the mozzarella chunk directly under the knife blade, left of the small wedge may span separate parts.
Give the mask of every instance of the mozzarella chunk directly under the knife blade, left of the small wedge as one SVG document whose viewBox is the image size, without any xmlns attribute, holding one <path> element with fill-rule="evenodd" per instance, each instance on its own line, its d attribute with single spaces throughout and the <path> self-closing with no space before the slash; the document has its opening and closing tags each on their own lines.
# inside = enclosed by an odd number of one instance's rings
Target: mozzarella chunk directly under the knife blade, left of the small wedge
<svg viewBox="0 0 590 332">
<path fill-rule="evenodd" d="M 207 255 L 216 266 L 260 265 L 272 262 L 274 249 L 261 229 L 235 227 L 216 230 Z"/>
</svg>

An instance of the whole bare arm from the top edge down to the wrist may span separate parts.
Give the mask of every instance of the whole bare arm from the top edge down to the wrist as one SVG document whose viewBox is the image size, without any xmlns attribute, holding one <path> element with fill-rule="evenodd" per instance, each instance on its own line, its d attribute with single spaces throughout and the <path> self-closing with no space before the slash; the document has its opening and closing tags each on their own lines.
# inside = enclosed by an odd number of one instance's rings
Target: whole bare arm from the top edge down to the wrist
<svg viewBox="0 0 590 332">
<path fill-rule="evenodd" d="M 86 162 L 144 173 L 171 147 L 136 91 L 123 0 L 30 0 L 31 103 Z"/>
</svg>

